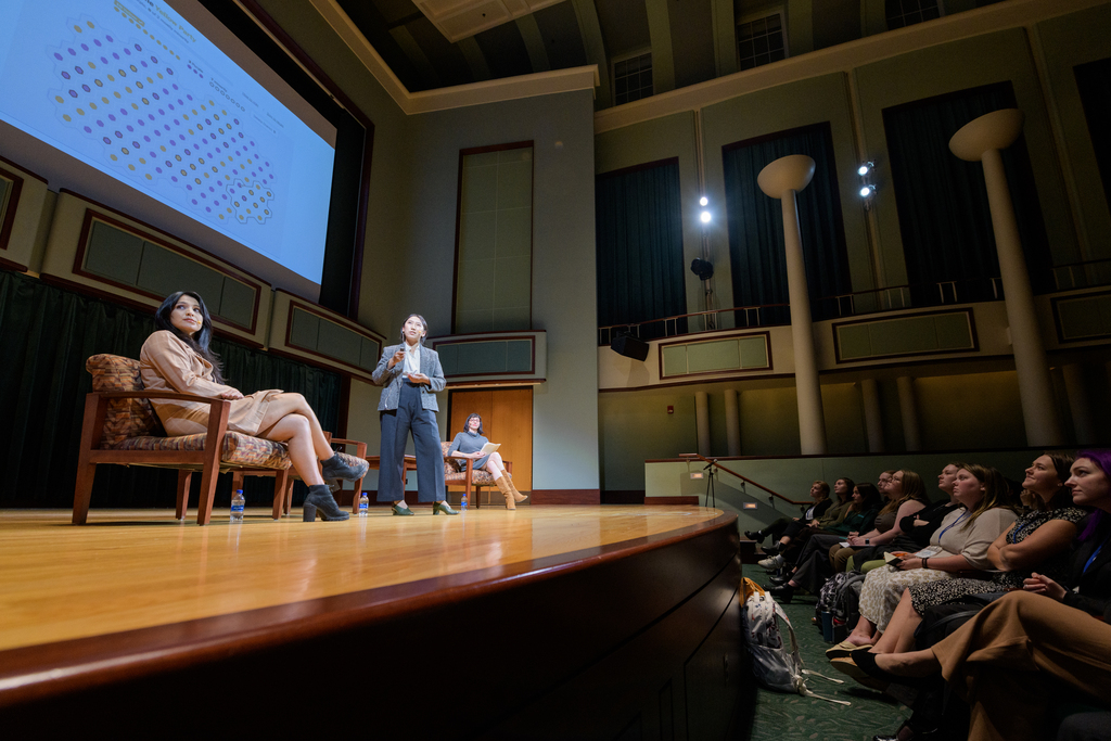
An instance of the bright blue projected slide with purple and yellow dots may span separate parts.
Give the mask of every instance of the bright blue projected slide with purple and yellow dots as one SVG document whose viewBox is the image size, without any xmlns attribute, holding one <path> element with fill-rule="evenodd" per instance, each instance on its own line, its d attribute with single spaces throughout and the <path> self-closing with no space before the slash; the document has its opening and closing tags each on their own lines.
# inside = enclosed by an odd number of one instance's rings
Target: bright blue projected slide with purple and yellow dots
<svg viewBox="0 0 1111 741">
<path fill-rule="evenodd" d="M 332 147 L 173 10 L 0 0 L 0 118 L 320 281 Z"/>
</svg>

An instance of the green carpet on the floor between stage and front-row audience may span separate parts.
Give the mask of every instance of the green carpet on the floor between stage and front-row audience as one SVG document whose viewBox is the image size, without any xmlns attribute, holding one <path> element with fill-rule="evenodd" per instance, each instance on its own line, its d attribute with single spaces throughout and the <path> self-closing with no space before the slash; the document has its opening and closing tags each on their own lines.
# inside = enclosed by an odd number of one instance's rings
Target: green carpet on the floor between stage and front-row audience
<svg viewBox="0 0 1111 741">
<path fill-rule="evenodd" d="M 763 582 L 759 570 L 747 569 L 750 578 Z M 752 573 L 755 571 L 755 573 Z M 759 577 L 758 577 L 759 575 Z M 848 700 L 851 705 L 827 702 L 801 694 L 787 694 L 759 689 L 755 693 L 755 709 L 751 741 L 871 741 L 878 733 L 893 733 L 910 717 L 910 710 L 888 695 L 858 684 L 849 677 L 830 667 L 825 659 L 829 643 L 822 640 L 821 631 L 811 624 L 815 598 L 795 595 L 793 603 L 783 610 L 791 619 L 794 634 L 799 639 L 799 654 L 803 669 L 817 671 L 827 677 L 844 680 L 843 684 L 828 682 L 821 677 L 807 674 L 807 688 L 817 694 L 837 700 Z"/>
</svg>

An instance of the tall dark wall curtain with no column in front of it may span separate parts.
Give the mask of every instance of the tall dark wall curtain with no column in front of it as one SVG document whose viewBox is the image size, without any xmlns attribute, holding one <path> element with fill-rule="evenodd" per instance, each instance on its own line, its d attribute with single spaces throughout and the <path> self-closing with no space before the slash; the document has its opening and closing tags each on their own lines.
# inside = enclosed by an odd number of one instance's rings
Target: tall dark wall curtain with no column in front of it
<svg viewBox="0 0 1111 741">
<path fill-rule="evenodd" d="M 598 176 L 598 324 L 634 324 L 687 313 L 679 161 Z M 687 331 L 680 320 L 674 331 Z M 635 333 L 635 332 L 634 332 Z M 663 322 L 639 337 L 664 334 Z"/>
</svg>

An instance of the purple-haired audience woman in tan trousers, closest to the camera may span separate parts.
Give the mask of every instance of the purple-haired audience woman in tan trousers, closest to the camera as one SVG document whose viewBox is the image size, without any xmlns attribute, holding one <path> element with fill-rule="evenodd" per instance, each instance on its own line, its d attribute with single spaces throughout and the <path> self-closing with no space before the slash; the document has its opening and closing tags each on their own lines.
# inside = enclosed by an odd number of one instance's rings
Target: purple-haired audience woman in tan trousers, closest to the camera
<svg viewBox="0 0 1111 741">
<path fill-rule="evenodd" d="M 940 673 L 970 705 L 971 741 L 1053 738 L 1050 703 L 1062 697 L 1111 708 L 1111 450 L 1077 453 L 1065 484 L 1073 504 L 1095 508 L 1067 582 L 1033 574 L 1023 591 L 992 602 L 933 647 L 860 651 L 868 655 L 858 665 L 880 681 L 915 685 Z M 1109 735 L 1105 718 L 1102 738 Z M 915 711 L 898 735 L 925 735 L 942 721 L 940 709 Z"/>
</svg>

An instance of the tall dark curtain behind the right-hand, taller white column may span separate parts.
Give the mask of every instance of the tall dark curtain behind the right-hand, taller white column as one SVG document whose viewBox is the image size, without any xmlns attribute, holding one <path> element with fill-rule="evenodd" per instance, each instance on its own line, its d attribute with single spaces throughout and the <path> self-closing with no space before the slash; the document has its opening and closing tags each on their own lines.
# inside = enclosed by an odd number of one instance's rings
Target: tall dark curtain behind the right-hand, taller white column
<svg viewBox="0 0 1111 741">
<path fill-rule="evenodd" d="M 915 306 L 991 300 L 999 257 L 983 166 L 949 151 L 949 140 L 973 119 L 1014 107 L 1010 82 L 889 108 L 883 127 L 908 282 Z M 1020 138 L 1002 152 L 1019 233 L 1035 292 L 1052 290 L 1052 261 L 1033 172 Z M 881 190 L 877 198 L 883 198 Z M 955 281 L 955 297 L 938 283 Z M 1002 298 L 1002 294 L 999 296 Z"/>
</svg>

